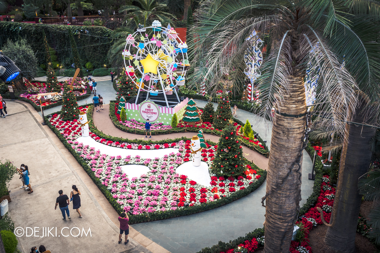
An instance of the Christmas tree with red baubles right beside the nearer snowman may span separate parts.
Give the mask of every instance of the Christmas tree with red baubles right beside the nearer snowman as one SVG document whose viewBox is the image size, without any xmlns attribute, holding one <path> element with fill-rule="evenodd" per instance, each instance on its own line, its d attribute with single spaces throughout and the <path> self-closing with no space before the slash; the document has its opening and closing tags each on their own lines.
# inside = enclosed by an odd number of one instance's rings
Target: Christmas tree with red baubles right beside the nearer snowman
<svg viewBox="0 0 380 253">
<path fill-rule="evenodd" d="M 243 149 L 237 141 L 236 127 L 229 125 L 222 131 L 212 162 L 212 171 L 218 176 L 241 176 L 245 172 Z"/>
</svg>

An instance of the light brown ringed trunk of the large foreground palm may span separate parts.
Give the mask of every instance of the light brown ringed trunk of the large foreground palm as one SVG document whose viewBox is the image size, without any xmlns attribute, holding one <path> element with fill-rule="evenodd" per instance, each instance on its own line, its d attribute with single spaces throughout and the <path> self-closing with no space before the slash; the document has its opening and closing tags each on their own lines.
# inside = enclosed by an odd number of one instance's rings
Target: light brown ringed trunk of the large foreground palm
<svg viewBox="0 0 380 253">
<path fill-rule="evenodd" d="M 276 103 L 272 128 L 266 184 L 265 253 L 289 252 L 301 199 L 300 150 L 305 133 L 306 96 L 302 76 L 290 78 L 290 87 L 283 90 L 283 102 Z M 299 166 L 294 165 L 297 162 Z"/>
</svg>

